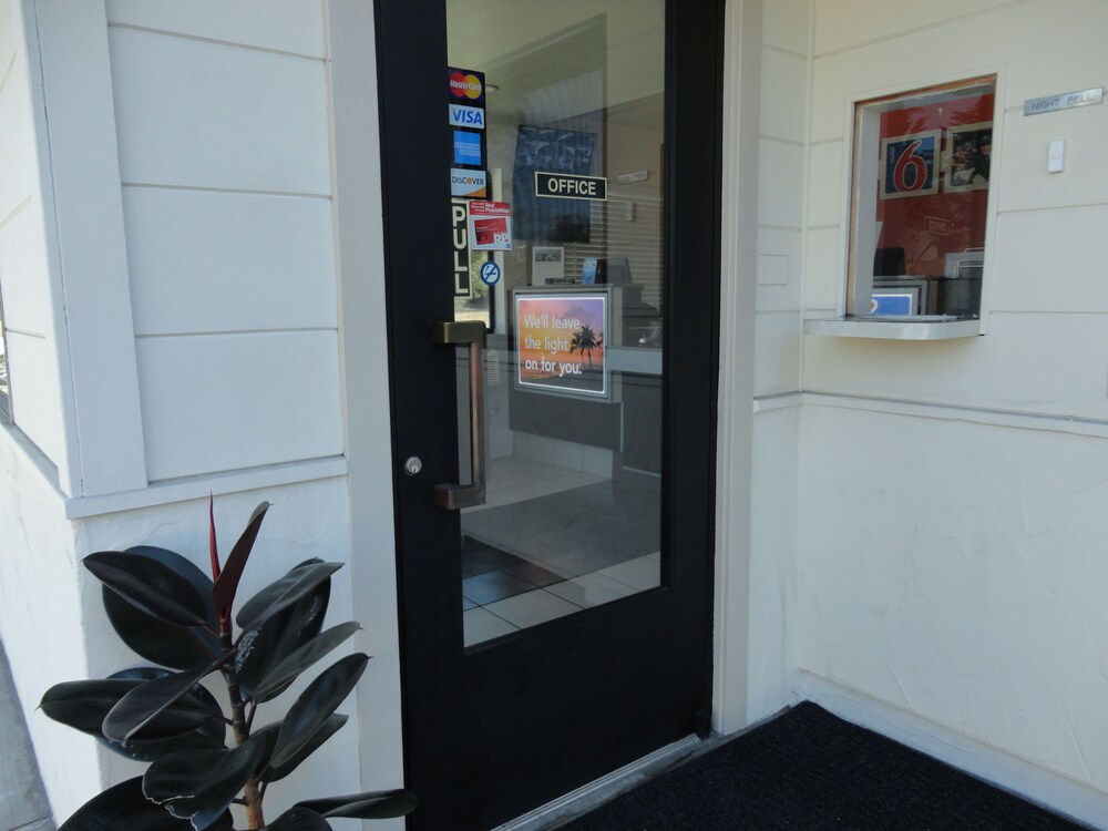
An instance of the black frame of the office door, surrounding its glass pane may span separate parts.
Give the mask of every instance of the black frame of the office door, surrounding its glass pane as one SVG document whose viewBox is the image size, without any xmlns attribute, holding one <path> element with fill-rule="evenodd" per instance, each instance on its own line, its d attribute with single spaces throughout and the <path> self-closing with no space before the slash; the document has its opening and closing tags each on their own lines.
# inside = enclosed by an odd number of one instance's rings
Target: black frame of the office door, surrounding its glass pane
<svg viewBox="0 0 1108 831">
<path fill-rule="evenodd" d="M 442 423 L 453 412 L 442 402 L 455 393 L 454 353 L 428 337 L 432 321 L 452 316 L 434 277 L 450 274 L 444 2 L 377 0 L 377 38 L 393 458 L 423 460 L 420 475 L 394 474 L 406 779 L 430 797 L 410 827 L 489 828 L 708 728 L 724 2 L 667 7 L 664 586 L 470 650 L 461 647 L 460 563 L 443 545 L 456 516 L 435 513 L 430 496 L 435 483 L 458 481 L 456 425 Z M 443 246 L 420 244 L 420 233 Z M 601 639 L 649 644 L 663 657 Z M 565 729 L 565 714 L 525 705 L 546 689 L 611 706 L 575 709 Z M 488 706 L 459 725 L 452 701 L 465 695 Z M 488 746 L 464 746 L 463 731 Z"/>
</svg>

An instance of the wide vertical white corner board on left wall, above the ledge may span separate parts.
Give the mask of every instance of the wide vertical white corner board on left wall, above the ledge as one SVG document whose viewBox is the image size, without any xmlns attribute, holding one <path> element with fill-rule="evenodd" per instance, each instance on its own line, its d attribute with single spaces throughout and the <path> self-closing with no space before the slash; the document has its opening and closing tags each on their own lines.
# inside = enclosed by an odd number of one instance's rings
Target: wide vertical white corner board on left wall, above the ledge
<svg viewBox="0 0 1108 831">
<path fill-rule="evenodd" d="M 61 486 L 136 490 L 145 448 L 107 13 L 102 0 L 24 8 L 37 22 L 28 40 L 66 433 Z"/>
</svg>

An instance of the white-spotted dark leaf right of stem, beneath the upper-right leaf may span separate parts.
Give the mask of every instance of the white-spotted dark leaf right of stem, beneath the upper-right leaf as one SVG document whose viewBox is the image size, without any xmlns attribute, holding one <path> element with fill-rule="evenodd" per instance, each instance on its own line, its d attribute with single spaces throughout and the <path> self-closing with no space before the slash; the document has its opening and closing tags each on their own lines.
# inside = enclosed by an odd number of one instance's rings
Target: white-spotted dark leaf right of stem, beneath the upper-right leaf
<svg viewBox="0 0 1108 831">
<path fill-rule="evenodd" d="M 324 561 L 314 557 L 295 566 L 293 571 L 321 562 Z M 253 696 L 270 667 L 320 633 L 330 597 L 331 581 L 328 578 L 266 620 L 254 630 L 255 634 L 247 633 L 239 640 L 235 666 L 238 669 L 238 686 L 244 696 Z"/>
</svg>

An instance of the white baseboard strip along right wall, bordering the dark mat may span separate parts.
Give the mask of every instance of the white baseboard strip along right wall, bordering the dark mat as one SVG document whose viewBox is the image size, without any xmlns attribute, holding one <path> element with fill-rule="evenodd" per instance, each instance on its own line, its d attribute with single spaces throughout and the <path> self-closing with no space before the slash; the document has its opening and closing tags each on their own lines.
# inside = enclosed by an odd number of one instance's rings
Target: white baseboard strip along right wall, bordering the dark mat
<svg viewBox="0 0 1108 831">
<path fill-rule="evenodd" d="M 801 670 L 800 699 L 952 765 L 1047 810 L 1095 828 L 1108 823 L 1108 793 L 976 741 L 935 721 Z"/>
</svg>

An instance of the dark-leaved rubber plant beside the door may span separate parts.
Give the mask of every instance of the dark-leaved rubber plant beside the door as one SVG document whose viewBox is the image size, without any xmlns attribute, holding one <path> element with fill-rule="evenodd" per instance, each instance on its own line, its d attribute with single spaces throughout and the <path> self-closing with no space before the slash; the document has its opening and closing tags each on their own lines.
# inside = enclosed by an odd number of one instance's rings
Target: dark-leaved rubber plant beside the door
<svg viewBox="0 0 1108 831">
<path fill-rule="evenodd" d="M 359 628 L 356 623 L 322 628 L 330 577 L 341 564 L 315 558 L 235 612 L 238 583 L 268 509 L 268 502 L 258 505 L 220 564 L 209 503 L 211 577 L 179 554 L 148 545 L 83 560 L 103 583 L 115 632 L 157 666 L 58 684 L 41 708 L 150 767 L 94 797 L 59 831 L 228 831 L 235 828 L 236 804 L 247 829 L 327 831 L 328 818 L 384 819 L 416 807 L 407 790 L 355 793 L 302 800 L 266 822 L 267 790 L 346 724 L 336 708 L 369 660 L 361 653 L 338 659 L 284 719 L 255 726 L 261 705 Z M 226 686 L 229 716 L 202 684 L 214 675 Z"/>
</svg>

